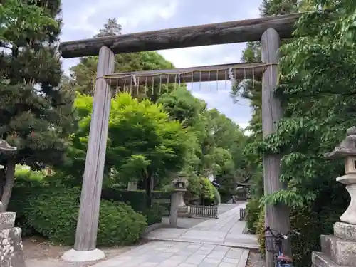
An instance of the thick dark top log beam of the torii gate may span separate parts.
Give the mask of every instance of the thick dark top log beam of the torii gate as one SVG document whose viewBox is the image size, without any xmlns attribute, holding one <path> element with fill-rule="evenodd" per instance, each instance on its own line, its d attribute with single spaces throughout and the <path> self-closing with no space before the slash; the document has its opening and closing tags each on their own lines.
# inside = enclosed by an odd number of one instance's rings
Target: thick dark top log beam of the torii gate
<svg viewBox="0 0 356 267">
<path fill-rule="evenodd" d="M 274 28 L 281 38 L 290 38 L 294 30 L 294 23 L 300 16 L 300 13 L 269 16 L 243 21 L 68 41 L 60 43 L 59 50 L 63 58 L 77 58 L 96 56 L 102 46 L 107 46 L 114 53 L 130 53 L 223 43 L 242 43 L 260 41 L 263 32 L 268 28 Z"/>
</svg>

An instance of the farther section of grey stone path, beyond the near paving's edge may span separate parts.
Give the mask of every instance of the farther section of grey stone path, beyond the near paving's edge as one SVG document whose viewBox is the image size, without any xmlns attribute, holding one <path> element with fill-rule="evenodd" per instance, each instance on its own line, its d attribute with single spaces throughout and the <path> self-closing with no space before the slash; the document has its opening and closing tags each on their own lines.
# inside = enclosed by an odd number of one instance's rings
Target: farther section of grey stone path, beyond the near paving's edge
<svg viewBox="0 0 356 267">
<path fill-rule="evenodd" d="M 246 203 L 235 205 L 219 219 L 203 221 L 189 229 L 161 228 L 151 231 L 147 239 L 162 241 L 184 241 L 204 244 L 216 244 L 242 248 L 258 248 L 255 235 L 243 234 L 246 222 L 239 221 L 240 208 Z"/>
</svg>

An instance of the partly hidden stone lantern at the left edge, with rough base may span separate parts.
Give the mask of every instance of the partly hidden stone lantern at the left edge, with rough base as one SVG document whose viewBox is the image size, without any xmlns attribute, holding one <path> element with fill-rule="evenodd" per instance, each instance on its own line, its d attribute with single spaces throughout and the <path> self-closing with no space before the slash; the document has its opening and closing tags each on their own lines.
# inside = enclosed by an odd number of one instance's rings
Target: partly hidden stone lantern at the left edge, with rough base
<svg viewBox="0 0 356 267">
<path fill-rule="evenodd" d="M 6 141 L 0 140 L 2 157 L 12 157 L 15 152 L 16 147 L 11 147 Z M 6 209 L 6 205 L 0 199 L 0 266 L 25 267 L 21 228 L 14 227 L 16 214 L 15 212 L 5 212 L 4 209 Z"/>
</svg>

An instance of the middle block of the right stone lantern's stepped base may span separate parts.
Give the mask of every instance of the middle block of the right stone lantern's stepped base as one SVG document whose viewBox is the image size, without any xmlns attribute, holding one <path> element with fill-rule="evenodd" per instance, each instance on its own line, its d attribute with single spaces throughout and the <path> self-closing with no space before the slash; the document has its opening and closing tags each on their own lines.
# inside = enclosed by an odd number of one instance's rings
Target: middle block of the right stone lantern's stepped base
<svg viewBox="0 0 356 267">
<path fill-rule="evenodd" d="M 356 267 L 356 242 L 337 236 L 321 235 L 321 252 L 340 266 Z"/>
</svg>

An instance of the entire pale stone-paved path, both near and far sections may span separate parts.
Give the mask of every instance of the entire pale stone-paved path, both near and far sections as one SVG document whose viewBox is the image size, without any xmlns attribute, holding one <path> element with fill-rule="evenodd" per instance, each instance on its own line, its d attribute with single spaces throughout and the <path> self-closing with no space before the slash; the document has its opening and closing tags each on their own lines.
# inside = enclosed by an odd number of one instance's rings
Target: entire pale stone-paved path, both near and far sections
<svg viewBox="0 0 356 267">
<path fill-rule="evenodd" d="M 241 234 L 241 224 L 245 223 L 236 223 L 236 212 L 239 209 L 230 209 L 219 215 L 219 220 L 203 221 L 192 229 L 164 229 L 152 234 L 180 236 L 179 240 L 184 235 L 187 236 L 184 240 L 188 242 L 152 241 L 92 267 L 236 267 L 241 264 L 244 267 L 244 255 L 246 252 L 248 255 L 248 250 L 211 244 L 211 240 L 226 241 L 226 236 L 234 242 L 250 241 L 250 236 Z"/>
</svg>

